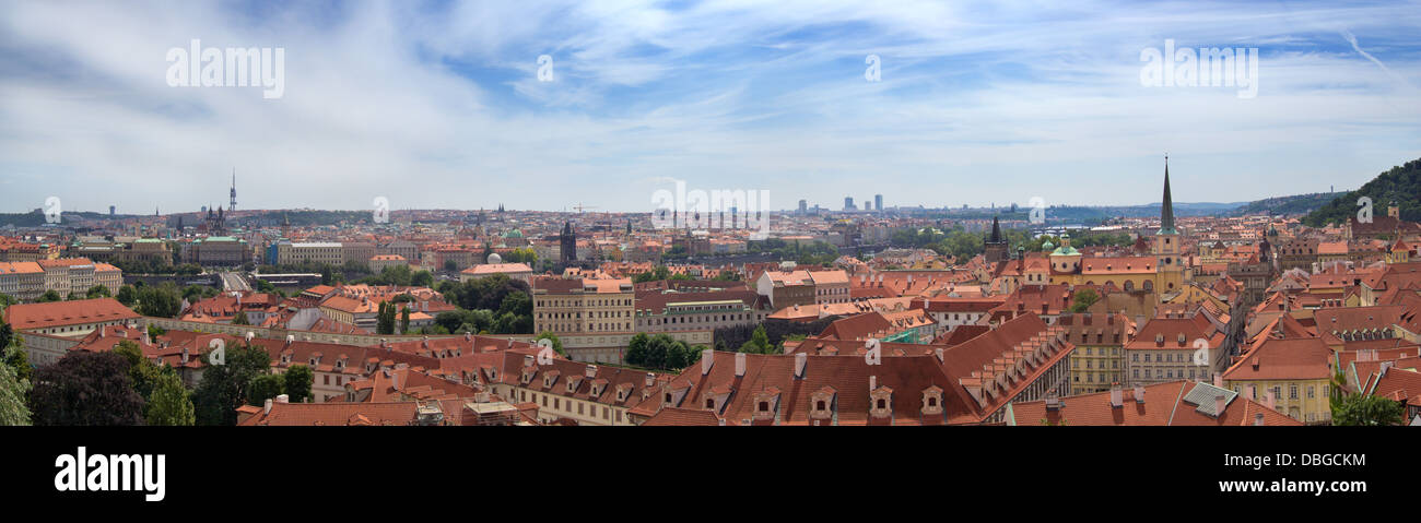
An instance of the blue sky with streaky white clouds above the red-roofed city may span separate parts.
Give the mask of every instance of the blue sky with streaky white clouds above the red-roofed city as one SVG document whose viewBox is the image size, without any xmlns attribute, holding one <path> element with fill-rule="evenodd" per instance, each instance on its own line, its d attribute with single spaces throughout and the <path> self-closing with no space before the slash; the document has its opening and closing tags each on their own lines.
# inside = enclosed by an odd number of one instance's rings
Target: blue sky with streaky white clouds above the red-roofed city
<svg viewBox="0 0 1421 523">
<path fill-rule="evenodd" d="M 0 212 L 649 210 L 672 179 L 840 207 L 1235 202 L 1421 156 L 1421 4 L 357 1 L 0 6 Z M 281 47 L 284 95 L 166 51 Z M 1141 51 L 1259 50 L 1258 95 Z M 537 57 L 553 57 L 539 81 Z M 881 80 L 864 78 L 865 57 Z"/>
</svg>

